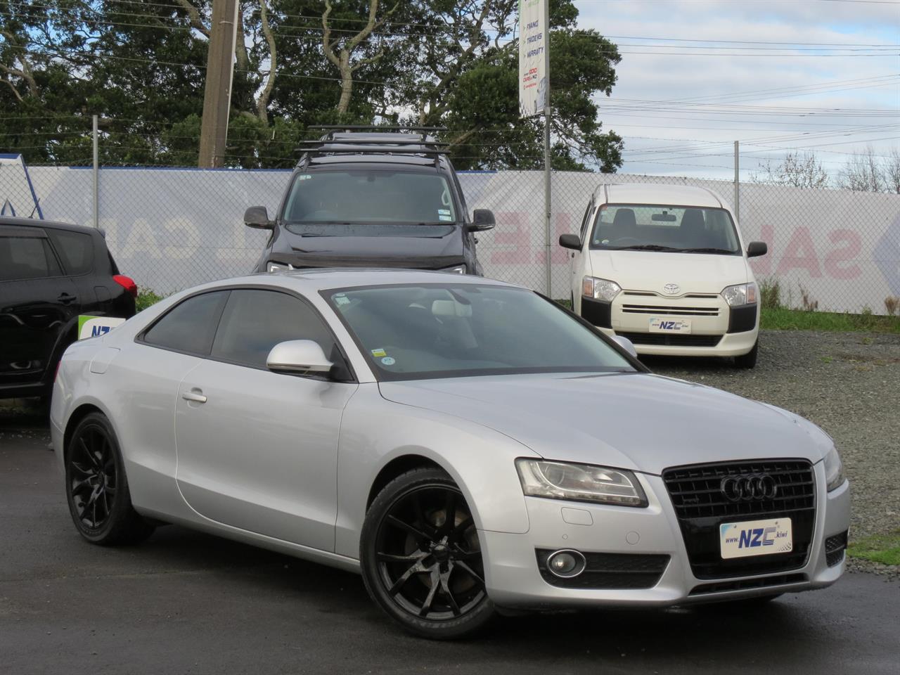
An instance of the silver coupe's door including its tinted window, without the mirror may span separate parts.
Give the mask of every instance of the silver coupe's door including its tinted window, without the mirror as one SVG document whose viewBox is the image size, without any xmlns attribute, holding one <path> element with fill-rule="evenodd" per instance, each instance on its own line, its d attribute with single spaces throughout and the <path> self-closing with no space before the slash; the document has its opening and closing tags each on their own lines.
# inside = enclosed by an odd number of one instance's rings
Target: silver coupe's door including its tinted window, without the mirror
<svg viewBox="0 0 900 675">
<path fill-rule="evenodd" d="M 205 518 L 333 551 L 338 432 L 357 385 L 268 371 L 269 350 L 293 339 L 338 355 L 324 321 L 299 297 L 231 291 L 211 357 L 178 392 L 178 487 Z"/>
</svg>

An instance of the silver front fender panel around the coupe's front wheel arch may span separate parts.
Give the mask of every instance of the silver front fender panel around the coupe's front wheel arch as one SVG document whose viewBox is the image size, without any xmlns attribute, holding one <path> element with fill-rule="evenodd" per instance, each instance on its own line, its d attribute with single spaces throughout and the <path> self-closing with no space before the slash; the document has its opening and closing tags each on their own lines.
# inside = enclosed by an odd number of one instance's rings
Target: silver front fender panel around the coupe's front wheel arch
<svg viewBox="0 0 900 675">
<path fill-rule="evenodd" d="M 449 473 L 479 530 L 528 531 L 515 459 L 535 453 L 473 422 L 385 401 L 377 383 L 367 383 L 347 405 L 341 425 L 336 553 L 358 557 L 373 483 L 383 467 L 404 455 L 425 457 Z"/>
</svg>

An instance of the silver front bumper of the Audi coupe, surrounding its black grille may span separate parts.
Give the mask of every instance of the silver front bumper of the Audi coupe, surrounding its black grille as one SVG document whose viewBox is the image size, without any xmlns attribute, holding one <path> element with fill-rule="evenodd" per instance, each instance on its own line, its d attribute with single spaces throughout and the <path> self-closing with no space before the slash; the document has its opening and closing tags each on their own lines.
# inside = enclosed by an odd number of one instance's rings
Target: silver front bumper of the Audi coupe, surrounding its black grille
<svg viewBox="0 0 900 675">
<path fill-rule="evenodd" d="M 638 474 L 650 501 L 646 509 L 527 497 L 530 527 L 526 534 L 479 531 L 488 594 L 503 608 L 541 609 L 671 606 L 824 588 L 837 581 L 844 570 L 843 559 L 828 566 L 825 539 L 846 532 L 850 525 L 850 487 L 844 482 L 837 490 L 826 493 L 822 463 L 815 464 L 814 470 L 815 527 L 802 567 L 751 576 L 698 579 L 691 572 L 678 518 L 662 478 Z M 564 509 L 570 510 L 563 517 Z M 541 576 L 536 549 L 575 549 L 584 554 L 665 554 L 670 560 L 651 588 L 563 588 L 551 585 Z"/>
</svg>

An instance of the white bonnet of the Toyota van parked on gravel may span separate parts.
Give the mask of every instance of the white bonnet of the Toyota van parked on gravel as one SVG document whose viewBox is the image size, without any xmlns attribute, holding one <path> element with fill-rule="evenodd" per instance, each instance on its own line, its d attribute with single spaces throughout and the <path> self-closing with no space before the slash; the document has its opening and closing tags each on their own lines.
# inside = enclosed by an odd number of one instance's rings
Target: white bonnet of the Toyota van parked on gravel
<svg viewBox="0 0 900 675">
<path fill-rule="evenodd" d="M 743 256 L 707 253 L 591 250 L 590 267 L 592 275 L 626 291 L 654 293 L 663 293 L 665 284 L 678 284 L 680 293 L 721 293 L 752 278 Z"/>
</svg>

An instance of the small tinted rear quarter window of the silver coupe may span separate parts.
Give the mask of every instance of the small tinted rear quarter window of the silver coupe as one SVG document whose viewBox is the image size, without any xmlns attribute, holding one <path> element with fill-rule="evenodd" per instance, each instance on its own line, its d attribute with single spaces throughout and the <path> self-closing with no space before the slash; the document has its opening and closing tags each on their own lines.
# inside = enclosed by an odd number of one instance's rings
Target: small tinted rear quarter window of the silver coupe
<svg viewBox="0 0 900 675">
<path fill-rule="evenodd" d="M 144 333 L 144 342 L 179 352 L 208 356 L 228 291 L 194 295 L 175 305 Z"/>
</svg>

